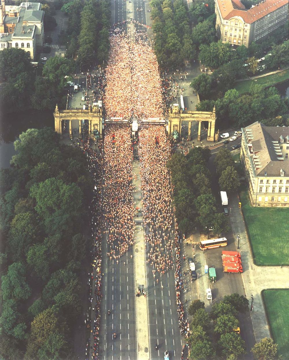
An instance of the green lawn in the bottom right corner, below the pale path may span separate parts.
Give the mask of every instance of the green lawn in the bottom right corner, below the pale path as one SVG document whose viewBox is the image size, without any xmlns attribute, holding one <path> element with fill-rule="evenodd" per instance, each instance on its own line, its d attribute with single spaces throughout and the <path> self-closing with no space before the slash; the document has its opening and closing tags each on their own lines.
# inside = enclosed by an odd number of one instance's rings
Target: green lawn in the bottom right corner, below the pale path
<svg viewBox="0 0 289 360">
<path fill-rule="evenodd" d="M 264 290 L 262 296 L 271 334 L 278 345 L 278 355 L 289 359 L 289 291 L 286 289 Z"/>
</svg>

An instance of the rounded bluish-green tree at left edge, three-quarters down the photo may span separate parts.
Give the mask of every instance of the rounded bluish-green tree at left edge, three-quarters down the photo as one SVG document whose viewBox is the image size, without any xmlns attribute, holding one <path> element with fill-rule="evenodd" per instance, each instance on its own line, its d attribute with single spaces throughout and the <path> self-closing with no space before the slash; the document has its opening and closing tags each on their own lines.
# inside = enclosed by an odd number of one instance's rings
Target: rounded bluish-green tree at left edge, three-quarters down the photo
<svg viewBox="0 0 289 360">
<path fill-rule="evenodd" d="M 27 300 L 31 290 L 26 282 L 25 267 L 20 262 L 14 262 L 8 267 L 6 275 L 1 277 L 1 291 L 3 300 Z"/>
</svg>

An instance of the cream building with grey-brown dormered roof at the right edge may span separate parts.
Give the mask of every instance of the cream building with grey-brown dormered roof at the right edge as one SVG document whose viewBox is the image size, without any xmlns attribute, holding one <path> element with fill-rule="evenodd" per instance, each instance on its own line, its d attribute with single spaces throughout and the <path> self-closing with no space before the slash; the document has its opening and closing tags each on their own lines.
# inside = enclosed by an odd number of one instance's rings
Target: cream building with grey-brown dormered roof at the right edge
<svg viewBox="0 0 289 360">
<path fill-rule="evenodd" d="M 289 127 L 242 129 L 241 161 L 252 206 L 289 207 Z"/>
</svg>

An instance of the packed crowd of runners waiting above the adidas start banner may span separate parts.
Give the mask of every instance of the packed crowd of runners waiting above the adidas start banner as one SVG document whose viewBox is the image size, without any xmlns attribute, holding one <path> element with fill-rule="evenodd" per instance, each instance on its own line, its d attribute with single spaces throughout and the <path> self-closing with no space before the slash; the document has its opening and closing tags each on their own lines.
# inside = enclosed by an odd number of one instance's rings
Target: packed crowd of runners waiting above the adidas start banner
<svg viewBox="0 0 289 360">
<path fill-rule="evenodd" d="M 163 118 L 157 58 L 149 45 L 112 35 L 106 68 L 104 104 L 107 117 Z"/>
</svg>

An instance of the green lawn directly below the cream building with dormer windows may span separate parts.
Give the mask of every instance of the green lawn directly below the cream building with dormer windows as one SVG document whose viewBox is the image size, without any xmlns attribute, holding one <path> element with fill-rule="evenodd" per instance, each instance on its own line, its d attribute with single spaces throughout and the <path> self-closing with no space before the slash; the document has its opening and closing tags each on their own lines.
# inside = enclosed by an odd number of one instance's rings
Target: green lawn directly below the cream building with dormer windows
<svg viewBox="0 0 289 360">
<path fill-rule="evenodd" d="M 247 190 L 240 191 L 256 265 L 289 265 L 289 208 L 251 207 Z"/>
</svg>

